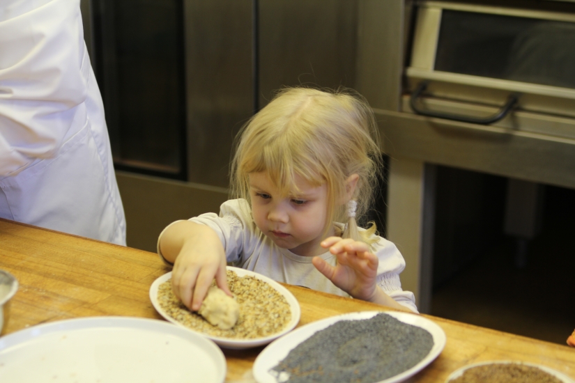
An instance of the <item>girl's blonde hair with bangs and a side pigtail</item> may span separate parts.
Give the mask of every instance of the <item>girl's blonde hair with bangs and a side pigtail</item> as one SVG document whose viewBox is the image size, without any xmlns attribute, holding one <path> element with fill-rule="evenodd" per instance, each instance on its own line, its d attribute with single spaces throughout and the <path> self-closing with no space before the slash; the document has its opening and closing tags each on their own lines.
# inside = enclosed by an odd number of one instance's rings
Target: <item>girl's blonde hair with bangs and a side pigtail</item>
<svg viewBox="0 0 575 383">
<path fill-rule="evenodd" d="M 376 226 L 361 233 L 348 218 L 346 180 L 358 174 L 353 200 L 360 219 L 369 209 L 381 166 L 374 114 L 367 101 L 351 89 L 320 91 L 285 88 L 240 130 L 231 164 L 231 194 L 250 201 L 248 175 L 266 172 L 289 195 L 296 175 L 310 185 L 327 184 L 328 223 L 348 221 L 343 237 L 363 242 Z M 343 202 L 342 202 L 343 201 Z"/>
</svg>

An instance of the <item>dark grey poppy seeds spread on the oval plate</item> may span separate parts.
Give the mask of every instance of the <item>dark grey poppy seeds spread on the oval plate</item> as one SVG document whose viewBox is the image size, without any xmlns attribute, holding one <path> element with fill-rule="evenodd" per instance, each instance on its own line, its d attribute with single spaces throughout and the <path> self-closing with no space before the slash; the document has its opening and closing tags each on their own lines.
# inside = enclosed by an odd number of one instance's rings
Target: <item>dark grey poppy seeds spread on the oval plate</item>
<svg viewBox="0 0 575 383">
<path fill-rule="evenodd" d="M 433 346 L 429 331 L 380 313 L 317 331 L 270 373 L 278 382 L 374 383 L 415 366 Z"/>
</svg>

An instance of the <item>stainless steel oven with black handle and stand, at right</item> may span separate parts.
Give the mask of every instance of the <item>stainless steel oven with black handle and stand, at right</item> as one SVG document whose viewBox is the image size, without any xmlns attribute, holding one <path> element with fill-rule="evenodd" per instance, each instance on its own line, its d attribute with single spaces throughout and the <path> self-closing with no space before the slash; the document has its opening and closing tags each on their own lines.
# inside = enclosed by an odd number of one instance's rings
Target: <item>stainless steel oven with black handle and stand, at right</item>
<svg viewBox="0 0 575 383">
<path fill-rule="evenodd" d="M 575 3 L 387 3 L 385 88 L 367 93 L 390 155 L 388 237 L 427 312 L 437 165 L 508 178 L 527 201 L 507 208 L 510 233 L 535 227 L 538 185 L 575 188 Z"/>
</svg>

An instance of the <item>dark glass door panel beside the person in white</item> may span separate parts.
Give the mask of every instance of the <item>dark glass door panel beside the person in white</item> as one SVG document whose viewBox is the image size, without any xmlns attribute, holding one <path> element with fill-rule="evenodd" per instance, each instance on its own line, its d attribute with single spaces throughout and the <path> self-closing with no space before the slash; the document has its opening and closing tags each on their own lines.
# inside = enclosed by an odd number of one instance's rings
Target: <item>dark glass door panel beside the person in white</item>
<svg viewBox="0 0 575 383">
<path fill-rule="evenodd" d="M 96 77 L 116 168 L 184 178 L 179 0 L 92 1 Z"/>
</svg>

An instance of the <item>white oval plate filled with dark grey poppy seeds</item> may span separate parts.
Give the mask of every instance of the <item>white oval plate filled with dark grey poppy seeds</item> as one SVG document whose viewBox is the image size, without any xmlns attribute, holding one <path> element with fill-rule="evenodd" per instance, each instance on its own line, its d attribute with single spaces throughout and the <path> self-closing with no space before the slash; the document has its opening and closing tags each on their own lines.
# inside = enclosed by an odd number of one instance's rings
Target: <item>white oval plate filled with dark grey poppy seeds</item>
<svg viewBox="0 0 575 383">
<path fill-rule="evenodd" d="M 363 311 L 312 322 L 258 355 L 258 383 L 402 382 L 434 361 L 445 332 L 421 315 Z"/>
</svg>

